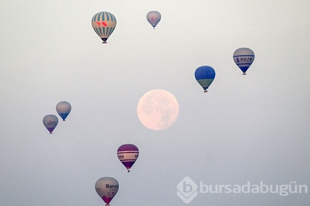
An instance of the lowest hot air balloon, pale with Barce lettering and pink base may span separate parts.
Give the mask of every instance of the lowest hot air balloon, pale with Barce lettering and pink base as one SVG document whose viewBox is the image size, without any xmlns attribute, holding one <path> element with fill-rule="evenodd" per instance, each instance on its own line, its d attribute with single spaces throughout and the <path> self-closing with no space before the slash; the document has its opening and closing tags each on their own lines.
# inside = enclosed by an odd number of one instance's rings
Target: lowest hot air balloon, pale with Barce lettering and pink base
<svg viewBox="0 0 310 206">
<path fill-rule="evenodd" d="M 116 195 L 119 185 L 118 181 L 113 177 L 101 177 L 96 181 L 95 189 L 98 195 L 109 206 L 111 200 Z"/>
</svg>

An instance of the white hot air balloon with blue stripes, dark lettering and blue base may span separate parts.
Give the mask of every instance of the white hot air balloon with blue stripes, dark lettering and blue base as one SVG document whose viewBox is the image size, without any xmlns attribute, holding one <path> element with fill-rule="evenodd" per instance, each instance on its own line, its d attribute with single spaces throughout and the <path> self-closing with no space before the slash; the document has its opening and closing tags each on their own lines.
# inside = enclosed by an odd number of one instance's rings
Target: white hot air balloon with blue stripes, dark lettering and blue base
<svg viewBox="0 0 310 206">
<path fill-rule="evenodd" d="M 248 68 L 254 61 L 254 52 L 249 48 L 238 48 L 233 52 L 233 61 L 243 72 L 243 75 L 246 75 Z"/>
</svg>

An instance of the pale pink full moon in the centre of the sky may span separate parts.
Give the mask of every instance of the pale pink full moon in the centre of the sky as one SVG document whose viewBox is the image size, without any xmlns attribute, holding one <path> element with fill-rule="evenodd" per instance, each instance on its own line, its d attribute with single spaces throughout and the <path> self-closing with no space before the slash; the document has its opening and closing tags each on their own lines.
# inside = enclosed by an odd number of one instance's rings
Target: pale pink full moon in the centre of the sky
<svg viewBox="0 0 310 206">
<path fill-rule="evenodd" d="M 154 89 L 139 100 L 137 114 L 140 122 L 151 130 L 165 130 L 179 116 L 179 103 L 168 91 Z"/>
</svg>

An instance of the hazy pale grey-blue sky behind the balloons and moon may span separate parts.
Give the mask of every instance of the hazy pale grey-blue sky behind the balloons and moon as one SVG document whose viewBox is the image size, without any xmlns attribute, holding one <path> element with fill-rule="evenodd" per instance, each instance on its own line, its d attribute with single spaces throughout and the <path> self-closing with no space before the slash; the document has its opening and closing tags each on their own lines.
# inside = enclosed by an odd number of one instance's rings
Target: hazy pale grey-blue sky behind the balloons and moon
<svg viewBox="0 0 310 206">
<path fill-rule="evenodd" d="M 91 26 L 100 11 L 117 19 L 108 44 Z M 186 176 L 310 189 L 309 11 L 309 0 L 2 0 L 0 205 L 102 206 L 94 184 L 107 176 L 120 184 L 111 206 L 185 206 Z M 239 47 L 255 53 L 246 76 Z M 202 65 L 216 71 L 208 93 L 194 77 Z M 152 89 L 178 100 L 167 130 L 137 116 Z M 42 118 L 60 101 L 72 110 L 49 134 Z M 125 143 L 140 150 L 130 173 L 116 155 Z M 309 203 L 309 193 L 199 193 L 188 205 Z"/>
</svg>

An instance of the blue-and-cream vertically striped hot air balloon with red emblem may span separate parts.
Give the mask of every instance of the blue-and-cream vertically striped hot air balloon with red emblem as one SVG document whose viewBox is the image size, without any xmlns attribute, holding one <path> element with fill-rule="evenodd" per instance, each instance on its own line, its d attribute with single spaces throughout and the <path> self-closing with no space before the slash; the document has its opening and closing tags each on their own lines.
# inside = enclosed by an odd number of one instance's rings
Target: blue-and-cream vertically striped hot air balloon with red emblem
<svg viewBox="0 0 310 206">
<path fill-rule="evenodd" d="M 116 18 L 109 12 L 99 12 L 92 18 L 93 30 L 107 44 L 107 39 L 116 27 Z"/>
</svg>

